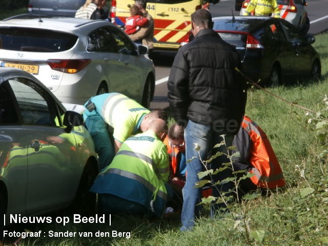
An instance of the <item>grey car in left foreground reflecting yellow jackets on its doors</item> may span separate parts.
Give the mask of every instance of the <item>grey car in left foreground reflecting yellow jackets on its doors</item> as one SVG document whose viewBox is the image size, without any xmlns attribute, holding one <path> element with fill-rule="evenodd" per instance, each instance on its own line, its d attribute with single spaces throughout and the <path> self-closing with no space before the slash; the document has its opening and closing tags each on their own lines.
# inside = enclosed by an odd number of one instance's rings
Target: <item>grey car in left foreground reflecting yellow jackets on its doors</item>
<svg viewBox="0 0 328 246">
<path fill-rule="evenodd" d="M 0 67 L 1 225 L 4 214 L 8 224 L 11 214 L 94 206 L 97 156 L 82 124 L 34 76 Z"/>
</svg>

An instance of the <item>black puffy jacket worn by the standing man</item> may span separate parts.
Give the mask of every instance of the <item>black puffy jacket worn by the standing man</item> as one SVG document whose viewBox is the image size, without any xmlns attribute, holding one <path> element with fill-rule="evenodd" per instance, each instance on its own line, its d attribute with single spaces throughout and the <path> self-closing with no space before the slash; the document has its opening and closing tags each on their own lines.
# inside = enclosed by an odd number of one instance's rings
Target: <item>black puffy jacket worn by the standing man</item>
<svg viewBox="0 0 328 246">
<path fill-rule="evenodd" d="M 177 52 L 168 81 L 171 113 L 180 124 L 192 120 L 236 134 L 245 112 L 245 80 L 238 53 L 212 29 L 201 29 Z"/>
</svg>

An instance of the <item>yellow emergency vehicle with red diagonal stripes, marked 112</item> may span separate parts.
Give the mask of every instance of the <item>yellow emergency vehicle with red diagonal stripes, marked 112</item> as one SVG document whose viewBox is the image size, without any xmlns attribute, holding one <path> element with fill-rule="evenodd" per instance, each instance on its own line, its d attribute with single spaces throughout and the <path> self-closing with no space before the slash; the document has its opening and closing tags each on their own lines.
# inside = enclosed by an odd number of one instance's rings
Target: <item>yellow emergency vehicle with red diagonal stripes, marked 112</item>
<svg viewBox="0 0 328 246">
<path fill-rule="evenodd" d="M 218 2 L 218 1 L 209 1 Z M 177 50 L 191 29 L 190 15 L 203 0 L 148 0 L 146 10 L 154 19 L 154 48 Z M 111 22 L 124 26 L 134 0 L 112 0 Z"/>
</svg>

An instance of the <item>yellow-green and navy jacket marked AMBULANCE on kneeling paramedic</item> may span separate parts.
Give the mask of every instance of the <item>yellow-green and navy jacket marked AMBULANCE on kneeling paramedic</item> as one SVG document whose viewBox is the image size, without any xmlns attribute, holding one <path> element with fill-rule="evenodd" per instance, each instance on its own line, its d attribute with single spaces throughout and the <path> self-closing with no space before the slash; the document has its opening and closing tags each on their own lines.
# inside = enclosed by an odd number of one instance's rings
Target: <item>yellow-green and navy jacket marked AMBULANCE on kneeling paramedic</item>
<svg viewBox="0 0 328 246">
<path fill-rule="evenodd" d="M 161 217 L 168 199 L 166 146 L 152 131 L 128 138 L 112 163 L 96 178 L 91 191 L 137 202 Z"/>
</svg>

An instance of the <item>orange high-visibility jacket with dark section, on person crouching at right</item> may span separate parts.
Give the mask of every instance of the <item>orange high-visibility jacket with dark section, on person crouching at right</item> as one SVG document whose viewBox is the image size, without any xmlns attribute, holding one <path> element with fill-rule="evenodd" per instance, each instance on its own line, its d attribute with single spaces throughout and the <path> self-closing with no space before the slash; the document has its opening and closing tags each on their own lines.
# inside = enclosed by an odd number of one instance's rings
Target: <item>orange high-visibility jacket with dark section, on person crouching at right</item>
<svg viewBox="0 0 328 246">
<path fill-rule="evenodd" d="M 233 145 L 240 157 L 234 158 L 237 170 L 247 169 L 255 174 L 252 182 L 261 188 L 276 188 L 285 185 L 278 159 L 271 147 L 267 134 L 249 117 L 244 116 Z"/>
</svg>

